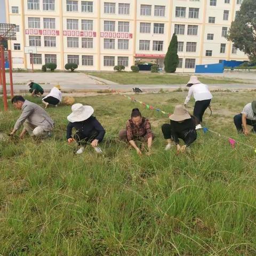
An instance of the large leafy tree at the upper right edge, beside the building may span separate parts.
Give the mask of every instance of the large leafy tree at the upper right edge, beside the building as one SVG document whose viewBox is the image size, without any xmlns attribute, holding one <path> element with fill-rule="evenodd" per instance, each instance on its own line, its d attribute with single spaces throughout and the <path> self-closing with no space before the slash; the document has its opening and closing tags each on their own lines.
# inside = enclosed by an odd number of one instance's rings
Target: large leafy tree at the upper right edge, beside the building
<svg viewBox="0 0 256 256">
<path fill-rule="evenodd" d="M 256 0 L 244 0 L 235 20 L 231 23 L 227 39 L 256 62 Z"/>
</svg>

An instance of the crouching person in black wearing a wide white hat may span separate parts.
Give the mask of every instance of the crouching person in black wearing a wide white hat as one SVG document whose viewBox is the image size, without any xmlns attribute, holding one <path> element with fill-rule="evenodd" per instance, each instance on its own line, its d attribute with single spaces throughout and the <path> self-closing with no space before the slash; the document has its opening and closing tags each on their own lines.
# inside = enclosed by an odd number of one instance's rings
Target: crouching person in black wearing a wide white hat
<svg viewBox="0 0 256 256">
<path fill-rule="evenodd" d="M 81 146 L 76 154 L 82 154 L 88 143 L 91 143 L 97 153 L 102 153 L 98 143 L 103 140 L 106 132 L 93 116 L 94 109 L 91 106 L 83 106 L 81 103 L 74 104 L 71 109 L 72 113 L 67 117 L 69 121 L 67 126 L 68 143 L 76 141 Z M 73 128 L 76 129 L 74 137 L 72 137 Z"/>
</svg>

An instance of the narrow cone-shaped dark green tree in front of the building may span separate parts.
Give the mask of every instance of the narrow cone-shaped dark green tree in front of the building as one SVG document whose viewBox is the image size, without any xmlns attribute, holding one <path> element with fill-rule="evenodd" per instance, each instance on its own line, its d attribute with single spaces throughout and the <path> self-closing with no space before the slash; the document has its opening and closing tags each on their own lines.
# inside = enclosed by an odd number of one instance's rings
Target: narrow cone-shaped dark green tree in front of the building
<svg viewBox="0 0 256 256">
<path fill-rule="evenodd" d="M 179 64 L 178 57 L 178 39 L 175 33 L 172 35 L 172 39 L 170 45 L 168 47 L 168 51 L 165 55 L 164 59 L 164 70 L 166 73 L 174 73 Z"/>
</svg>

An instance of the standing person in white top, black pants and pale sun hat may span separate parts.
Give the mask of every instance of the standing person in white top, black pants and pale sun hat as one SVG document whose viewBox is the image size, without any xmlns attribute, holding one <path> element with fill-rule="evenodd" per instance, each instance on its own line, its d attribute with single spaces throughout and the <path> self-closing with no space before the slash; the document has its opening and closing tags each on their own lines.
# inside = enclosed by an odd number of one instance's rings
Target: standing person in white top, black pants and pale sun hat
<svg viewBox="0 0 256 256">
<path fill-rule="evenodd" d="M 191 95 L 193 95 L 196 101 L 193 115 L 198 119 L 198 122 L 202 123 L 204 112 L 206 108 L 210 106 L 212 94 L 210 93 L 208 86 L 206 84 L 202 84 L 196 76 L 190 77 L 187 86 L 189 87 L 189 91 L 184 105 L 186 107 Z M 196 125 L 196 130 L 201 128 L 201 124 Z"/>
</svg>

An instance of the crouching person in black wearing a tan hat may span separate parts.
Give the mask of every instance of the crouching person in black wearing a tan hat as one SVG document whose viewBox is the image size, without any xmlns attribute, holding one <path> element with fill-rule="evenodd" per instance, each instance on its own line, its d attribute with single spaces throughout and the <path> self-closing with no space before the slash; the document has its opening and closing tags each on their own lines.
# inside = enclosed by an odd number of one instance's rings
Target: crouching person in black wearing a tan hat
<svg viewBox="0 0 256 256">
<path fill-rule="evenodd" d="M 178 153 L 184 152 L 192 142 L 196 140 L 196 125 L 194 117 L 190 116 L 185 106 L 175 106 L 174 113 L 170 116 L 171 123 L 162 125 L 164 138 L 167 140 L 165 150 L 172 146 L 172 141 L 177 145 Z M 185 145 L 180 146 L 179 138 L 182 139 Z"/>
</svg>

